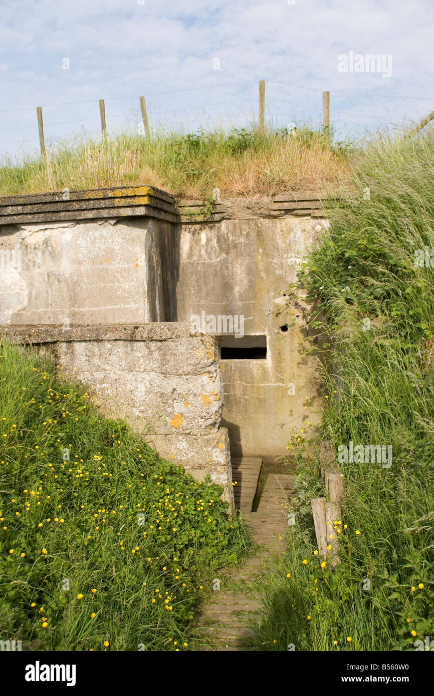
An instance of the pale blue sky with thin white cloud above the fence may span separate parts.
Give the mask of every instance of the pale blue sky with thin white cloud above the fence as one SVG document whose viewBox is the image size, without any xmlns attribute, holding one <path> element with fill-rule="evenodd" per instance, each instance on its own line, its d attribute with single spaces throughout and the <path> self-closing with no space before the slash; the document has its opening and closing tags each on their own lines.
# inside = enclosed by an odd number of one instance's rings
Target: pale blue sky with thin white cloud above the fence
<svg viewBox="0 0 434 696">
<path fill-rule="evenodd" d="M 48 147 L 100 99 L 109 134 L 141 95 L 152 127 L 247 127 L 259 80 L 273 127 L 318 127 L 324 90 L 336 139 L 399 127 L 434 109 L 433 26 L 433 0 L 0 0 L 0 157 L 38 150 L 36 106 Z"/>
</svg>

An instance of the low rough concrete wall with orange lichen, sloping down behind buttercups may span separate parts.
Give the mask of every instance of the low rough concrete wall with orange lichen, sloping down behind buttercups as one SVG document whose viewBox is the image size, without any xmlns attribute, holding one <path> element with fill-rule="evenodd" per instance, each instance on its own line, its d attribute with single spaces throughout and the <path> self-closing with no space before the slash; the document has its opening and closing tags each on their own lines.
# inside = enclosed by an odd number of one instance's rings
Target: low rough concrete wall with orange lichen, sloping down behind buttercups
<svg viewBox="0 0 434 696">
<path fill-rule="evenodd" d="M 188 324 L 9 326 L 11 340 L 53 354 L 63 374 L 98 395 L 105 413 L 130 422 L 162 457 L 199 480 L 210 475 L 233 507 L 223 389 L 212 336 Z"/>
</svg>

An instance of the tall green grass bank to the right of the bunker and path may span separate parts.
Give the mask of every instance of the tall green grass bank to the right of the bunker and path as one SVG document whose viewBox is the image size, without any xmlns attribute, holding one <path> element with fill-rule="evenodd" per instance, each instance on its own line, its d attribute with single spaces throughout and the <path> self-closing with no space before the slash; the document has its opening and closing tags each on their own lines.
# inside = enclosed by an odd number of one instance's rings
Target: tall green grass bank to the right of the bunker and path
<svg viewBox="0 0 434 696">
<path fill-rule="evenodd" d="M 298 452 L 297 523 L 270 574 L 258 649 L 406 651 L 434 635 L 433 162 L 432 134 L 380 137 L 357 155 L 358 195 L 330 210 L 300 278 L 329 336 L 324 435 L 336 451 L 392 445 L 392 466 L 339 464 L 341 564 L 323 573 L 309 505 L 324 494 L 318 447 Z"/>
</svg>

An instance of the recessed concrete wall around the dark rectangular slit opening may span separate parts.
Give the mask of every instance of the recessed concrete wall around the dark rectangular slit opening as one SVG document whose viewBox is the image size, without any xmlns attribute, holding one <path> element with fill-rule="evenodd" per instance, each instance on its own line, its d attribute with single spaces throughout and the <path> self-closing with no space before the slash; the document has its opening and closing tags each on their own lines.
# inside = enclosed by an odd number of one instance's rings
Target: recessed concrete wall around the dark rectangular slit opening
<svg viewBox="0 0 434 696">
<path fill-rule="evenodd" d="M 291 427 L 316 422 L 316 358 L 302 356 L 307 303 L 286 301 L 284 293 L 296 283 L 323 224 L 310 216 L 292 216 L 180 226 L 180 321 L 203 312 L 217 319 L 242 316 L 245 337 L 266 337 L 265 360 L 221 363 L 223 422 L 233 454 L 279 457 L 286 453 Z M 235 338 L 232 345 L 237 342 L 241 347 L 246 339 Z"/>
</svg>

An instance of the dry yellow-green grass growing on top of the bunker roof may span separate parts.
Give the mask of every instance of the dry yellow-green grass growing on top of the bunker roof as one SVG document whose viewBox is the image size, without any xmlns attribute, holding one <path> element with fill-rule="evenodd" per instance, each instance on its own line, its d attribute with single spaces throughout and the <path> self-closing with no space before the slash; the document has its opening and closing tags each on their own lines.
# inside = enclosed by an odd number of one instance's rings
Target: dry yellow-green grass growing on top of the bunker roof
<svg viewBox="0 0 434 696">
<path fill-rule="evenodd" d="M 265 135 L 251 127 L 194 134 L 157 129 L 149 139 L 77 136 L 49 150 L 46 160 L 3 160 L 0 196 L 141 184 L 187 198 L 205 199 L 216 188 L 221 196 L 258 196 L 337 186 L 350 172 L 348 145 L 334 146 L 307 127 Z"/>
</svg>

